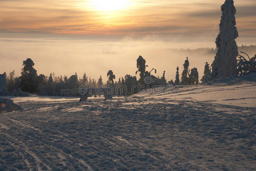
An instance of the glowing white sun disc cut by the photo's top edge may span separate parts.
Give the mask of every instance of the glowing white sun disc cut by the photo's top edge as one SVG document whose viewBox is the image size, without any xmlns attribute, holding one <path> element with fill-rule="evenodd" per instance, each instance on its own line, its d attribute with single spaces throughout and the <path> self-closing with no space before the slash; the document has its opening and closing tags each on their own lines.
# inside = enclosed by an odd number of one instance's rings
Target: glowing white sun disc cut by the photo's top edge
<svg viewBox="0 0 256 171">
<path fill-rule="evenodd" d="M 128 7 L 129 0 L 91 0 L 92 6 L 100 11 L 118 11 Z"/>
</svg>

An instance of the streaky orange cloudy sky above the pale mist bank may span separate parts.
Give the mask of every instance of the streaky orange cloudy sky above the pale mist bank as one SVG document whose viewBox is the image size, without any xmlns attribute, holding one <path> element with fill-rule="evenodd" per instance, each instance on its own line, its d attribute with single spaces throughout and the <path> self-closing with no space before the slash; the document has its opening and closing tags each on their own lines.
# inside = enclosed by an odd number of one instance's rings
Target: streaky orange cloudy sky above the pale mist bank
<svg viewBox="0 0 256 171">
<path fill-rule="evenodd" d="M 216 36 L 220 7 L 224 3 L 224 0 L 125 0 L 127 5 L 123 9 L 103 11 L 93 1 L 1 0 L 0 32 Z M 239 35 L 256 36 L 256 1 L 239 0 L 235 6 Z"/>
</svg>

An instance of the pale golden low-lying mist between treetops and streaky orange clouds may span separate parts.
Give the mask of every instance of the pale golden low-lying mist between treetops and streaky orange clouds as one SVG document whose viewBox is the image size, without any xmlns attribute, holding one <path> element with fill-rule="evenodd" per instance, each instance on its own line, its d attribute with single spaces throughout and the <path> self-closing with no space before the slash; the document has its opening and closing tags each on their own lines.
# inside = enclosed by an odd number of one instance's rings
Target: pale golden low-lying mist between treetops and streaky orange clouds
<svg viewBox="0 0 256 171">
<path fill-rule="evenodd" d="M 82 39 L 37 39 L 1 38 L 0 73 L 15 70 L 20 75 L 22 62 L 27 58 L 34 60 L 38 74 L 71 76 L 75 73 L 82 78 L 88 76 L 98 79 L 100 75 L 107 80 L 108 70 L 113 70 L 116 80 L 126 74 L 135 75 L 136 60 L 139 55 L 147 60 L 148 70 L 156 68 L 156 76 L 166 71 L 166 79 L 175 78 L 176 67 L 182 72 L 184 60 L 189 57 L 190 69 L 197 67 L 200 79 L 205 62 L 212 63 L 215 56 L 215 38 L 173 38 L 169 40 L 131 39 L 122 40 L 82 40 Z M 243 43 L 244 42 L 244 43 Z M 240 38 L 238 44 L 250 44 Z M 200 48 L 203 47 L 203 48 Z M 208 48 L 205 48 L 208 47 Z M 188 50 L 187 48 L 193 49 Z M 183 50 L 180 50 L 183 49 Z M 253 50 L 250 55 L 256 54 Z"/>
</svg>

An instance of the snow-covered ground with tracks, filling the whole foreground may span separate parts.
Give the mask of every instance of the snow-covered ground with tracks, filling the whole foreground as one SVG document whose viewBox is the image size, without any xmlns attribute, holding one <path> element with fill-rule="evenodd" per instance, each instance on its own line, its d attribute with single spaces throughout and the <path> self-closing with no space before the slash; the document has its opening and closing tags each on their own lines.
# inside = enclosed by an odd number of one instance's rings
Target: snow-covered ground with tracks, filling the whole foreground
<svg viewBox="0 0 256 171">
<path fill-rule="evenodd" d="M 13 97 L 24 110 L 0 113 L 0 170 L 256 170 L 255 89 Z"/>
</svg>

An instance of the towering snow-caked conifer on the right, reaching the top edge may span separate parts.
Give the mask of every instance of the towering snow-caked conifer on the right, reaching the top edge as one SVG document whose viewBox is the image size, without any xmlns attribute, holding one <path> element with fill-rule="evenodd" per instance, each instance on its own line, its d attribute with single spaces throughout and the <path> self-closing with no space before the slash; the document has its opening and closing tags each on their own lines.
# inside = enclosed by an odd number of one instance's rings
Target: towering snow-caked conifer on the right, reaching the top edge
<svg viewBox="0 0 256 171">
<path fill-rule="evenodd" d="M 212 64 L 212 78 L 227 77 L 237 74 L 237 27 L 233 0 L 226 0 L 221 6 L 222 17 L 220 33 L 216 38 L 217 54 Z"/>
</svg>

